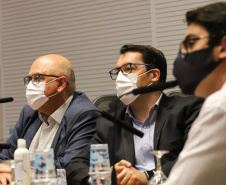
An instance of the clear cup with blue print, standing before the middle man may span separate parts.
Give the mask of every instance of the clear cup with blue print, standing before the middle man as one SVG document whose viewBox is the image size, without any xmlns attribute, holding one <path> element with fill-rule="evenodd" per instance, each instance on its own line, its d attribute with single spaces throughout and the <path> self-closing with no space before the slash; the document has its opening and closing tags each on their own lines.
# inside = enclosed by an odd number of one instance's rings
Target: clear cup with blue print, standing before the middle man
<svg viewBox="0 0 226 185">
<path fill-rule="evenodd" d="M 111 185 L 111 168 L 107 144 L 90 146 L 89 175 L 92 185 Z"/>
</svg>

